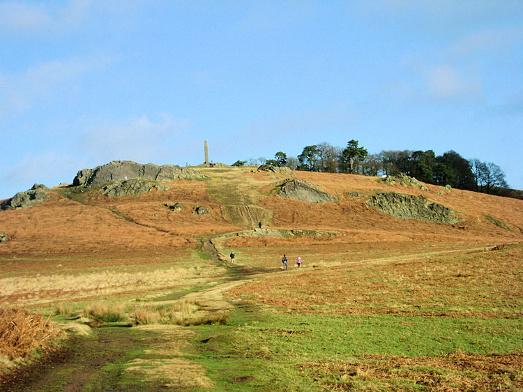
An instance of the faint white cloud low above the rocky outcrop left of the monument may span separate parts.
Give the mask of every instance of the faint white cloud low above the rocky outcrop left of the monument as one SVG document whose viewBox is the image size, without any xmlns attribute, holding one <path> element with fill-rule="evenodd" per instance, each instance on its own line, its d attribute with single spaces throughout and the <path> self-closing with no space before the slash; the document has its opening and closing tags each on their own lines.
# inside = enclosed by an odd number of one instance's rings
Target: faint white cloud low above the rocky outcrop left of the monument
<svg viewBox="0 0 523 392">
<path fill-rule="evenodd" d="M 106 123 L 87 129 L 80 138 L 80 149 L 98 162 L 136 160 L 157 163 L 181 153 L 189 121 L 162 114 L 153 121 L 142 115 L 135 119 Z"/>
</svg>

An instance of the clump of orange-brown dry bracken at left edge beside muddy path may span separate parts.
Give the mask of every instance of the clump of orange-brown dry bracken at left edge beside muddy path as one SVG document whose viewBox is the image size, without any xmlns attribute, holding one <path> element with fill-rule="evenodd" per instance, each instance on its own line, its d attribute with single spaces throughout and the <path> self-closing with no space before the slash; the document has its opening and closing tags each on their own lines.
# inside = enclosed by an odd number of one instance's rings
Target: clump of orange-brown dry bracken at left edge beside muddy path
<svg viewBox="0 0 523 392">
<path fill-rule="evenodd" d="M 17 308 L 0 309 L 0 355 L 13 360 L 45 348 L 61 332 L 42 315 Z"/>
</svg>

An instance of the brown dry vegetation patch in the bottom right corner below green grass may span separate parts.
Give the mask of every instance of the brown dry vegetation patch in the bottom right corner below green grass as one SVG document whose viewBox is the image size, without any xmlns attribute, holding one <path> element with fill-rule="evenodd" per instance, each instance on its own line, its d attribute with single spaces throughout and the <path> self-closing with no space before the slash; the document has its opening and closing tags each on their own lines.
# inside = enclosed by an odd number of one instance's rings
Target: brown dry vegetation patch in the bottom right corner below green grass
<svg viewBox="0 0 523 392">
<path fill-rule="evenodd" d="M 521 352 L 483 355 L 457 351 L 414 358 L 363 356 L 352 363 L 319 362 L 300 368 L 317 377 L 335 376 L 340 382 L 326 386 L 333 390 L 364 389 L 361 382 L 372 381 L 380 390 L 418 386 L 430 391 L 512 391 L 523 388 L 522 366 Z"/>
</svg>

